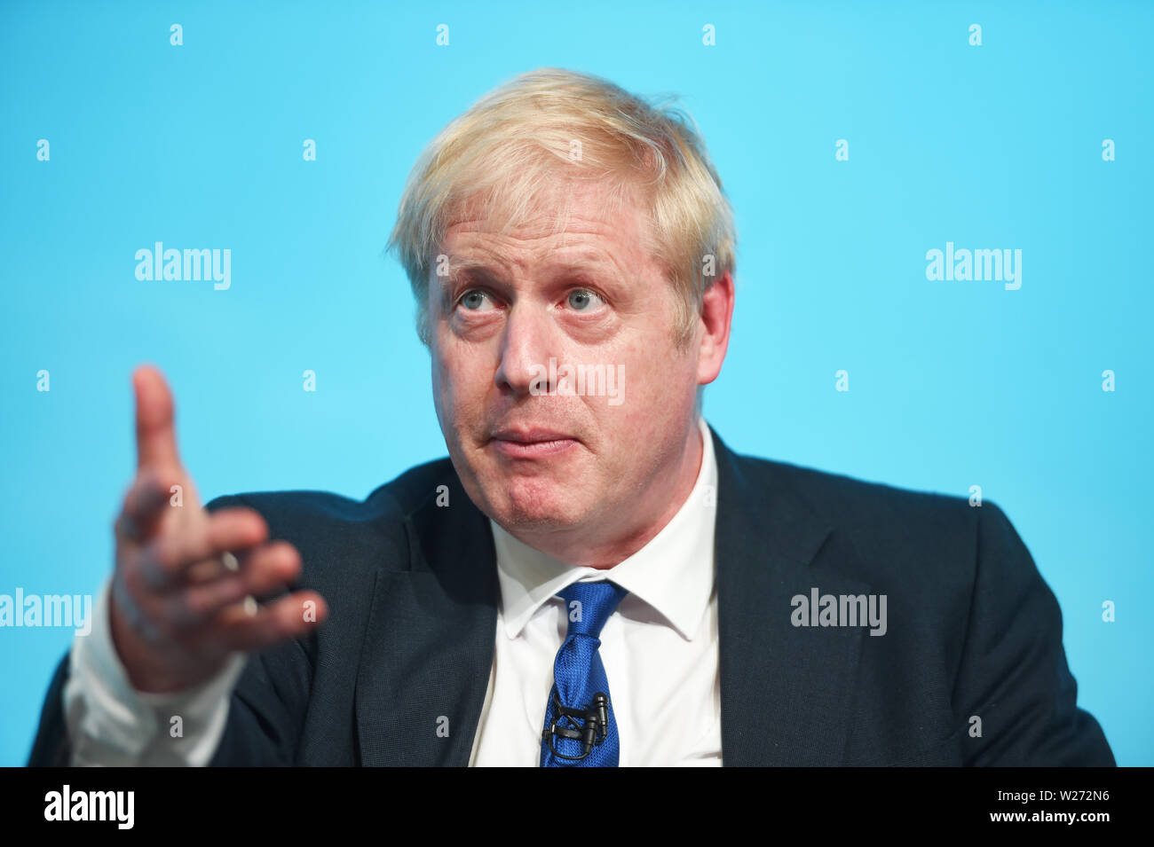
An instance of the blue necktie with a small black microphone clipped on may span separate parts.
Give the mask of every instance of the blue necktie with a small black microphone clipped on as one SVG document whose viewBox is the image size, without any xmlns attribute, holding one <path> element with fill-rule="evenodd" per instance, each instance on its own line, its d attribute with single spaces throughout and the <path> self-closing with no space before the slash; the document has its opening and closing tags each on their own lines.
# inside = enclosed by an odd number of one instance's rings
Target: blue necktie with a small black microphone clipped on
<svg viewBox="0 0 1154 847">
<path fill-rule="evenodd" d="M 617 721 L 597 649 L 601 628 L 627 593 L 612 582 L 575 582 L 557 592 L 565 602 L 569 629 L 553 663 L 541 767 L 617 766 Z"/>
</svg>

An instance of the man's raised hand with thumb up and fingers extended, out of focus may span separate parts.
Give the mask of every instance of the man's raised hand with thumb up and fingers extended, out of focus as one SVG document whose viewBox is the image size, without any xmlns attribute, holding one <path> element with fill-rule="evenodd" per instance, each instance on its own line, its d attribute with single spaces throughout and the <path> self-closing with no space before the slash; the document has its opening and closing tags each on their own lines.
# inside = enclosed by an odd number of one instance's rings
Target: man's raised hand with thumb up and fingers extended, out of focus
<svg viewBox="0 0 1154 847">
<path fill-rule="evenodd" d="M 307 633 L 328 608 L 315 591 L 267 606 L 253 600 L 293 580 L 300 554 L 286 542 L 268 542 L 253 509 L 204 511 L 180 464 L 164 377 L 142 366 L 133 385 L 137 467 L 114 527 L 112 640 L 137 690 L 175 691 L 216 675 L 233 651 Z M 174 505 L 174 485 L 181 505 Z"/>
</svg>

